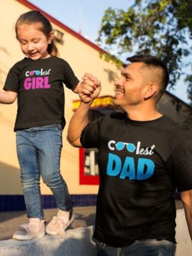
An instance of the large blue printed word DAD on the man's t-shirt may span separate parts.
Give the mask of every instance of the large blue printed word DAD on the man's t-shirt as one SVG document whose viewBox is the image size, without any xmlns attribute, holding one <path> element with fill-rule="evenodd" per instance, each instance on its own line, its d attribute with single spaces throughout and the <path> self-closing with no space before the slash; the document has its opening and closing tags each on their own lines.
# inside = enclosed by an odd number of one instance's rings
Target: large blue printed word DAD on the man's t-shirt
<svg viewBox="0 0 192 256">
<path fill-rule="evenodd" d="M 107 174 L 109 176 L 118 176 L 120 179 L 129 178 L 129 180 L 146 180 L 154 174 L 155 164 L 152 160 L 139 158 L 138 165 L 134 163 L 133 157 L 126 157 L 124 163 L 120 157 L 109 153 Z"/>
</svg>

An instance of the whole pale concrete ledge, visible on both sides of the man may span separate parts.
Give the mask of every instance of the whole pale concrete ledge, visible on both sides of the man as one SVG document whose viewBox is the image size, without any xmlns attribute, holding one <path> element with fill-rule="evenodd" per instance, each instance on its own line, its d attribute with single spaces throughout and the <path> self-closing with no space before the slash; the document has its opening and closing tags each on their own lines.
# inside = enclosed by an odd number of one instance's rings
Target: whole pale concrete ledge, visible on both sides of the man
<svg viewBox="0 0 192 256">
<path fill-rule="evenodd" d="M 176 256 L 191 256 L 192 246 L 184 210 L 177 210 L 177 252 Z M 0 256 L 95 256 L 92 241 L 93 227 L 70 229 L 65 239 L 45 236 L 31 241 L 0 241 Z"/>
</svg>

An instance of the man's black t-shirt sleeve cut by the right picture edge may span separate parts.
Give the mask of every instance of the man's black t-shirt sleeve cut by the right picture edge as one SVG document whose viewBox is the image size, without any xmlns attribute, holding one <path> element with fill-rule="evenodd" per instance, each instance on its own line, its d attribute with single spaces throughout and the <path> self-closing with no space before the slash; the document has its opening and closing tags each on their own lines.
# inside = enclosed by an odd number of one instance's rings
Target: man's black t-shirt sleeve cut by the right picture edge
<svg viewBox="0 0 192 256">
<path fill-rule="evenodd" d="M 166 161 L 179 192 L 192 189 L 192 139 L 189 138 L 175 148 Z"/>
</svg>

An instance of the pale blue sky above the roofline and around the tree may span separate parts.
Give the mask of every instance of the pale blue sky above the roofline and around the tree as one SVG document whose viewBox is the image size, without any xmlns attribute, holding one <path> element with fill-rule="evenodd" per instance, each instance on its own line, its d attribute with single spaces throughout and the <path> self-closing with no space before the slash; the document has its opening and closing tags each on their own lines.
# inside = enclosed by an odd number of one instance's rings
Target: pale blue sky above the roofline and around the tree
<svg viewBox="0 0 192 256">
<path fill-rule="evenodd" d="M 100 22 L 104 15 L 104 11 L 111 8 L 127 10 L 134 2 L 133 0 L 28 0 L 35 4 L 38 8 L 49 13 L 52 17 L 60 20 L 63 24 L 73 29 L 77 33 L 81 30 L 88 40 L 95 43 L 100 28 Z M 113 52 L 114 54 L 114 52 Z M 129 54 L 127 54 L 127 57 Z M 125 61 L 122 58 L 122 61 Z M 99 77 L 98 77 L 99 79 Z M 168 90 L 179 99 L 189 103 L 186 93 L 187 86 L 180 79 L 176 84 L 175 90 Z"/>
</svg>

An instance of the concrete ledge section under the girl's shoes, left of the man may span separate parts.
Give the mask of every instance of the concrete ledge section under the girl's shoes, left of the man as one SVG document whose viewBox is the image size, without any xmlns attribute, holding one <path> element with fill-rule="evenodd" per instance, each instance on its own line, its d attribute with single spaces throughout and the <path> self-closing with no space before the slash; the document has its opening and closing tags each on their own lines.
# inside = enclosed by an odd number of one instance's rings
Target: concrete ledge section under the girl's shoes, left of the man
<svg viewBox="0 0 192 256">
<path fill-rule="evenodd" d="M 93 227 L 70 229 L 65 239 L 45 236 L 31 241 L 0 241 L 0 256 L 83 256 L 95 255 Z"/>
</svg>

